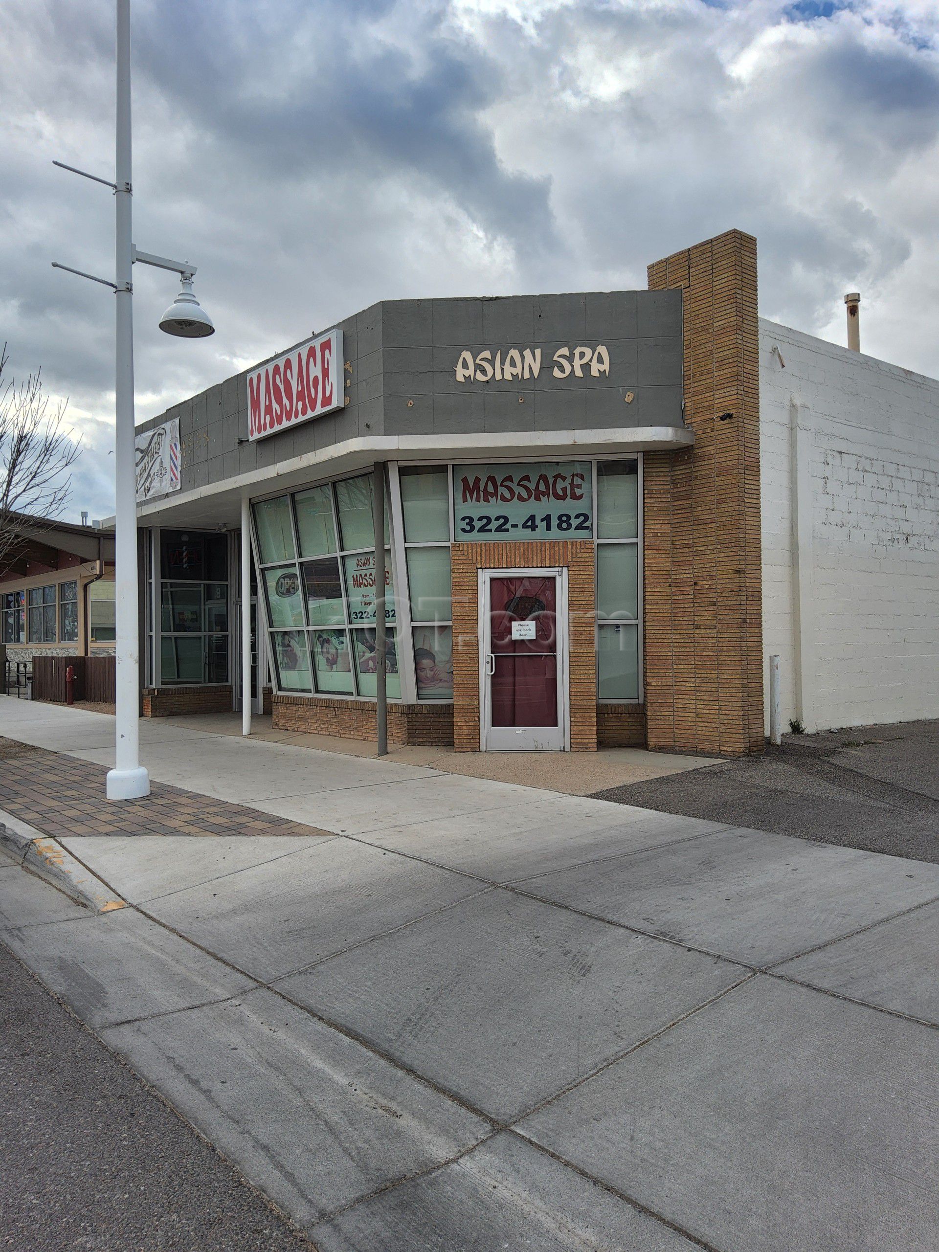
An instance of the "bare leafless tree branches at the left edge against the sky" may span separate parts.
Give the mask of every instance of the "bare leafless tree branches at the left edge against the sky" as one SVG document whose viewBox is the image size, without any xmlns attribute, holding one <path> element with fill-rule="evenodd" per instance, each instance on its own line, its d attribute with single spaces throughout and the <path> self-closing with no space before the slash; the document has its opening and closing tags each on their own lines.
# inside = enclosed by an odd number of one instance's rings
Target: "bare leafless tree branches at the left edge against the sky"
<svg viewBox="0 0 939 1252">
<path fill-rule="evenodd" d="M 0 568 L 15 558 L 28 530 L 50 525 L 69 500 L 81 446 L 65 426 L 68 401 L 50 408 L 41 372 L 19 384 L 4 379 L 6 344 L 0 351 Z"/>
</svg>

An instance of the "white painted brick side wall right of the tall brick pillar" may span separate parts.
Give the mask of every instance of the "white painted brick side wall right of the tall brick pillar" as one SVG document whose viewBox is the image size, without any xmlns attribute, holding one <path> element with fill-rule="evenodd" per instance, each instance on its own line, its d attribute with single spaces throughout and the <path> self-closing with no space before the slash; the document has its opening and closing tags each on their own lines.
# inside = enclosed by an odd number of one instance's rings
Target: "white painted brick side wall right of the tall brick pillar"
<svg viewBox="0 0 939 1252">
<path fill-rule="evenodd" d="M 761 319 L 764 661 L 780 657 L 782 729 L 798 711 L 793 397 L 811 431 L 809 729 L 939 717 L 939 382 Z"/>
</svg>

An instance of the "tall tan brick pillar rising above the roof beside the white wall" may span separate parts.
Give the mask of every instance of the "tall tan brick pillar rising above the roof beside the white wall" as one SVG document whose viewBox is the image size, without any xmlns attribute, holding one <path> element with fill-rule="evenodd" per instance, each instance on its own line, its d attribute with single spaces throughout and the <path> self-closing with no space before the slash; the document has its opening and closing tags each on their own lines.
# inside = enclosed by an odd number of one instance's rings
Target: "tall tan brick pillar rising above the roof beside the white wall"
<svg viewBox="0 0 939 1252">
<path fill-rule="evenodd" d="M 649 287 L 685 293 L 696 437 L 644 458 L 649 746 L 762 751 L 756 240 L 730 230 L 657 260 Z"/>
</svg>

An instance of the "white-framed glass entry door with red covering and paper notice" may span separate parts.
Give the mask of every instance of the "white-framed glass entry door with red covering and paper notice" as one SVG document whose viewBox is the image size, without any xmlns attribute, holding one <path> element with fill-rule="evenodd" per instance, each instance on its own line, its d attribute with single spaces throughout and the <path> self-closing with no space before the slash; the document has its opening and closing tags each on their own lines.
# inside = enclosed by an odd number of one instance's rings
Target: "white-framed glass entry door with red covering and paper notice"
<svg viewBox="0 0 939 1252">
<path fill-rule="evenodd" d="M 566 751 L 567 571 L 481 571 L 480 618 L 481 747 Z"/>
</svg>

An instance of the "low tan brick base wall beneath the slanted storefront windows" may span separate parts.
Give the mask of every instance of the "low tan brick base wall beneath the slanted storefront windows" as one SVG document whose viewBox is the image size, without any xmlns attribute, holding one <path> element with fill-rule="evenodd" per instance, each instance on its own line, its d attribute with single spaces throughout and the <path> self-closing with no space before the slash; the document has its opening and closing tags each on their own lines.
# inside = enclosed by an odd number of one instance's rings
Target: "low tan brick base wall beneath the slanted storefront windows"
<svg viewBox="0 0 939 1252">
<path fill-rule="evenodd" d="M 376 705 L 364 700 L 317 696 L 272 696 L 274 730 L 307 735 L 376 740 Z M 449 747 L 453 744 L 453 706 L 449 704 L 388 705 L 388 742 L 396 746 Z"/>
</svg>

